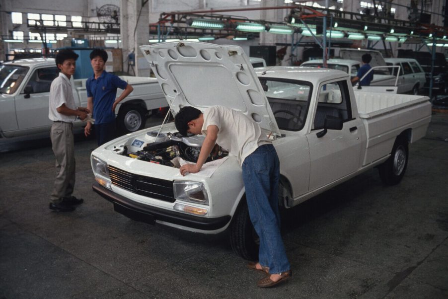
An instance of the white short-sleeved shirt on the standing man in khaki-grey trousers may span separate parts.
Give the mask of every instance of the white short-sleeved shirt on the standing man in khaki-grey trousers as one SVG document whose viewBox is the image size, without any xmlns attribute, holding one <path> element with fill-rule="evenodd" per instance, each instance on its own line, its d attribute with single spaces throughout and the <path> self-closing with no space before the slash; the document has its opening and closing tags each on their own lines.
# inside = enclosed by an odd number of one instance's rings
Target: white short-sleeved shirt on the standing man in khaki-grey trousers
<svg viewBox="0 0 448 299">
<path fill-rule="evenodd" d="M 76 120 L 75 115 L 64 115 L 56 110 L 62 104 L 65 104 L 70 109 L 76 110 L 72 83 L 66 75 L 59 73 L 59 76 L 51 82 L 48 118 L 52 121 L 74 122 Z"/>
</svg>

